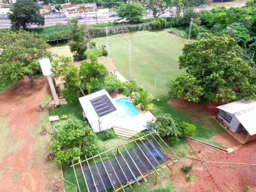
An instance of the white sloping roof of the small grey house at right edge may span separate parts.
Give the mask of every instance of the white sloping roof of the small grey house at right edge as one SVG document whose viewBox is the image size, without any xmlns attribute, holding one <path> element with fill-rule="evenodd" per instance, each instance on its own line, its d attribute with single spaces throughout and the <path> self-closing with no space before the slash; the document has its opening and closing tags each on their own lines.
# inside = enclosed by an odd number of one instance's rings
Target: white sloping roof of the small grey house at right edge
<svg viewBox="0 0 256 192">
<path fill-rule="evenodd" d="M 250 135 L 256 134 L 256 101 L 234 101 L 217 108 L 235 115 Z"/>
</svg>

